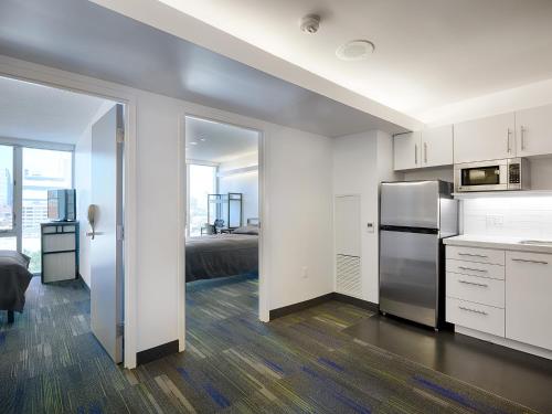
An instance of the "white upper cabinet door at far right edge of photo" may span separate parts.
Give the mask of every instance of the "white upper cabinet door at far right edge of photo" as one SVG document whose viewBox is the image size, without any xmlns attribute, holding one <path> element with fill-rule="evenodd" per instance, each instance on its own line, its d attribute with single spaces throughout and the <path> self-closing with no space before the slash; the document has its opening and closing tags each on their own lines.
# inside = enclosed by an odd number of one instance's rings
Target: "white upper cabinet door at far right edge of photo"
<svg viewBox="0 0 552 414">
<path fill-rule="evenodd" d="M 518 157 L 552 153 L 552 105 L 516 113 Z"/>
</svg>

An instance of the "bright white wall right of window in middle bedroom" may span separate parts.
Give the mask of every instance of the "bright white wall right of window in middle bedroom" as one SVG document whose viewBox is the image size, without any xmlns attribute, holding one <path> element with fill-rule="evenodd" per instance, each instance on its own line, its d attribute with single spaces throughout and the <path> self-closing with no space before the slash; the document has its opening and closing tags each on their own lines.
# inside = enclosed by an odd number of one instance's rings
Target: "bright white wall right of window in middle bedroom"
<svg viewBox="0 0 552 414">
<path fill-rule="evenodd" d="M 258 168 L 258 153 L 250 153 L 219 166 L 219 173 L 229 174 L 219 178 L 219 192 L 241 192 L 243 194 L 242 220 L 258 217 L 258 169 L 232 174 L 232 171 L 246 167 Z"/>
</svg>

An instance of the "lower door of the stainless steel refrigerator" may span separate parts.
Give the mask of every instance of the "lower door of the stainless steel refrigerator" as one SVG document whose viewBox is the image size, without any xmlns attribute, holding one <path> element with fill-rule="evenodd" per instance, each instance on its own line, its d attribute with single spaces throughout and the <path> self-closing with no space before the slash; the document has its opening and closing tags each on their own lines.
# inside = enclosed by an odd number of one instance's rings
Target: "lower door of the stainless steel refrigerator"
<svg viewBox="0 0 552 414">
<path fill-rule="evenodd" d="M 437 234 L 380 232 L 380 310 L 429 327 L 438 325 Z"/>
</svg>

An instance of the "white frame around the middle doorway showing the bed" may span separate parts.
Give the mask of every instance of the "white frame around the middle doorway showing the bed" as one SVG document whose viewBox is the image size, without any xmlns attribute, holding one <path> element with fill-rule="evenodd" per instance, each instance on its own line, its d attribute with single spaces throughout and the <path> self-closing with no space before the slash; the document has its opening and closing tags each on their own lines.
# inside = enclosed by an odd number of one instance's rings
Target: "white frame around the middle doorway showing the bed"
<svg viewBox="0 0 552 414">
<path fill-rule="evenodd" d="M 193 117 L 204 120 L 210 120 L 219 124 L 232 125 L 238 128 L 253 130 L 258 134 L 258 220 L 261 223 L 258 234 L 258 318 L 263 322 L 269 320 L 268 306 L 268 278 L 267 263 L 265 261 L 267 231 L 265 223 L 267 222 L 267 205 L 265 202 L 265 130 L 262 126 L 242 121 L 224 116 L 222 113 L 213 115 L 211 108 L 203 107 L 194 109 L 184 109 L 179 117 L 179 142 L 178 142 L 178 337 L 179 352 L 185 349 L 185 224 L 187 224 L 187 205 L 188 205 L 188 168 L 185 163 L 185 118 Z M 226 113 L 227 114 L 227 113 Z"/>
</svg>

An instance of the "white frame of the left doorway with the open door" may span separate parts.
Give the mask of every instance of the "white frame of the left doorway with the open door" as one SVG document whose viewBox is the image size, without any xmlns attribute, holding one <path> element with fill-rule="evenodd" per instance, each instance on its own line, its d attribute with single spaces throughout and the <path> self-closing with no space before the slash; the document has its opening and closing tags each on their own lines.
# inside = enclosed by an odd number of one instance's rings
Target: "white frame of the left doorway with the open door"
<svg viewBox="0 0 552 414">
<path fill-rule="evenodd" d="M 114 83 L 94 79 L 83 75 L 20 61 L 0 55 L 0 76 L 30 82 L 59 89 L 92 95 L 114 100 L 125 107 L 125 151 L 124 151 L 124 296 L 125 296 L 125 350 L 124 367 L 136 368 L 137 329 L 137 98 L 131 88 Z"/>
</svg>

